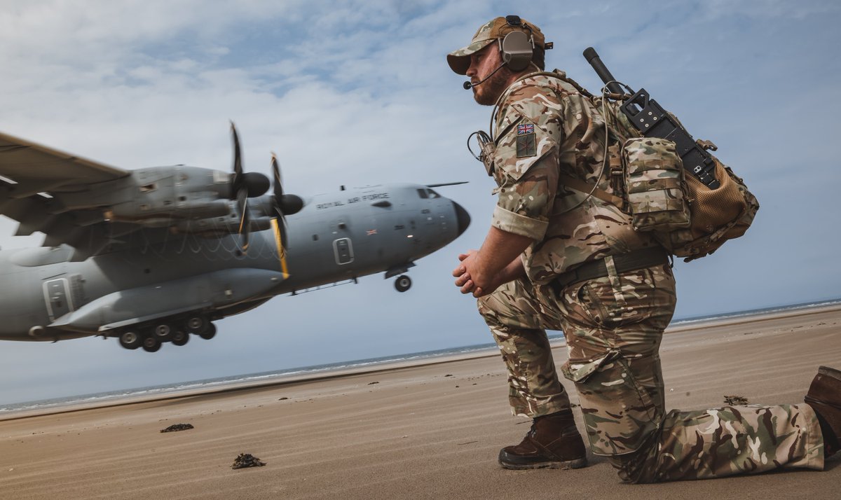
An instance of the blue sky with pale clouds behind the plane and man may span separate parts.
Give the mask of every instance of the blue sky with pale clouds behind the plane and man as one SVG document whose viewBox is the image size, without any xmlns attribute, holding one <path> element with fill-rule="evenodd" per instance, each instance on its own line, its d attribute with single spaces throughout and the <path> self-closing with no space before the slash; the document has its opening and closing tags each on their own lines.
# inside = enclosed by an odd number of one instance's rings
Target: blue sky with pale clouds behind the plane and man
<svg viewBox="0 0 841 500">
<path fill-rule="evenodd" d="M 743 238 L 675 263 L 676 318 L 841 297 L 837 2 L 3 0 L 3 133 L 124 169 L 229 170 L 234 120 L 246 170 L 268 174 L 277 152 L 288 192 L 468 181 L 438 191 L 473 223 L 418 261 L 409 292 L 377 275 L 275 297 L 220 320 L 211 341 L 155 354 L 115 339 L 2 342 L 0 407 L 491 342 L 450 276 L 495 203 L 466 147 L 491 110 L 445 55 L 511 13 L 554 42 L 548 68 L 598 92 L 581 55 L 595 47 L 758 197 Z M 0 247 L 40 245 L 15 227 L 0 220 Z"/>
</svg>

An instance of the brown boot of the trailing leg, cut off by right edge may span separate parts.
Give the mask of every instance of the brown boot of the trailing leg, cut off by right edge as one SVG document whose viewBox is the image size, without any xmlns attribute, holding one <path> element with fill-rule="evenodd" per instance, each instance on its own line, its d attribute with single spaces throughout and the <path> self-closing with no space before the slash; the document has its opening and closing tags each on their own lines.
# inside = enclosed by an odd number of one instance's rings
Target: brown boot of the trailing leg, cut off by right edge
<svg viewBox="0 0 841 500">
<path fill-rule="evenodd" d="M 804 401 L 815 410 L 823 434 L 823 454 L 839 450 L 841 436 L 841 371 L 828 366 L 817 369 Z"/>
</svg>

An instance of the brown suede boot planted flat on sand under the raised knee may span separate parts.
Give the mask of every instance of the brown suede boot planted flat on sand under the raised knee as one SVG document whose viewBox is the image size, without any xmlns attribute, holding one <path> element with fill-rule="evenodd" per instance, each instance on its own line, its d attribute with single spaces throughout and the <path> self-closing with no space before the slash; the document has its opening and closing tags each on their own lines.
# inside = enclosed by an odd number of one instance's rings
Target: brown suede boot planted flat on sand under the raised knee
<svg viewBox="0 0 841 500">
<path fill-rule="evenodd" d="M 500 450 L 500 466 L 506 469 L 578 469 L 586 465 L 584 440 L 569 409 L 535 418 L 532 430 L 519 445 Z"/>
</svg>

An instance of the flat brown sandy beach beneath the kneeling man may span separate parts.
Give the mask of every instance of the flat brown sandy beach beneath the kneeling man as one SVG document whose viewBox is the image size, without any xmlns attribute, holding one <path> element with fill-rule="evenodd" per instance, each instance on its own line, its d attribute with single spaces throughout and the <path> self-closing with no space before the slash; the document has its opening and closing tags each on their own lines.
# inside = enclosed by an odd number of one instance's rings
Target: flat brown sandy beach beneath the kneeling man
<svg viewBox="0 0 841 500">
<path fill-rule="evenodd" d="M 661 354 L 668 408 L 716 408 L 724 395 L 800 403 L 818 365 L 841 368 L 841 308 L 675 328 Z M 563 363 L 566 348 L 554 355 Z M 505 378 L 489 355 L 11 414 L 0 417 L 0 498 L 841 496 L 838 457 L 822 472 L 655 485 L 623 485 L 593 455 L 576 471 L 505 471 L 498 451 L 531 422 L 510 415 Z M 160 432 L 172 424 L 194 429 Z M 266 466 L 231 469 L 241 453 Z"/>
</svg>

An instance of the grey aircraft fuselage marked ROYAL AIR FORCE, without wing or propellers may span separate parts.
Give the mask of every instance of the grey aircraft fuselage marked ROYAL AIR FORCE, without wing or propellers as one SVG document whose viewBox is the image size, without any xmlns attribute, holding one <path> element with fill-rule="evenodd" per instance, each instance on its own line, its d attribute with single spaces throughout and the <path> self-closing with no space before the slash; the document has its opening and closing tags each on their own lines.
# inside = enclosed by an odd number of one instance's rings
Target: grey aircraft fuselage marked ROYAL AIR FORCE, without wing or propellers
<svg viewBox="0 0 841 500">
<path fill-rule="evenodd" d="M 358 276 L 395 276 L 469 224 L 457 203 L 410 184 L 310 197 L 286 220 L 285 252 L 273 227 L 252 232 L 247 252 L 237 234 L 167 229 L 129 234 L 78 262 L 67 246 L 0 251 L 0 339 L 119 336 L 197 315 L 223 318 Z"/>
</svg>

